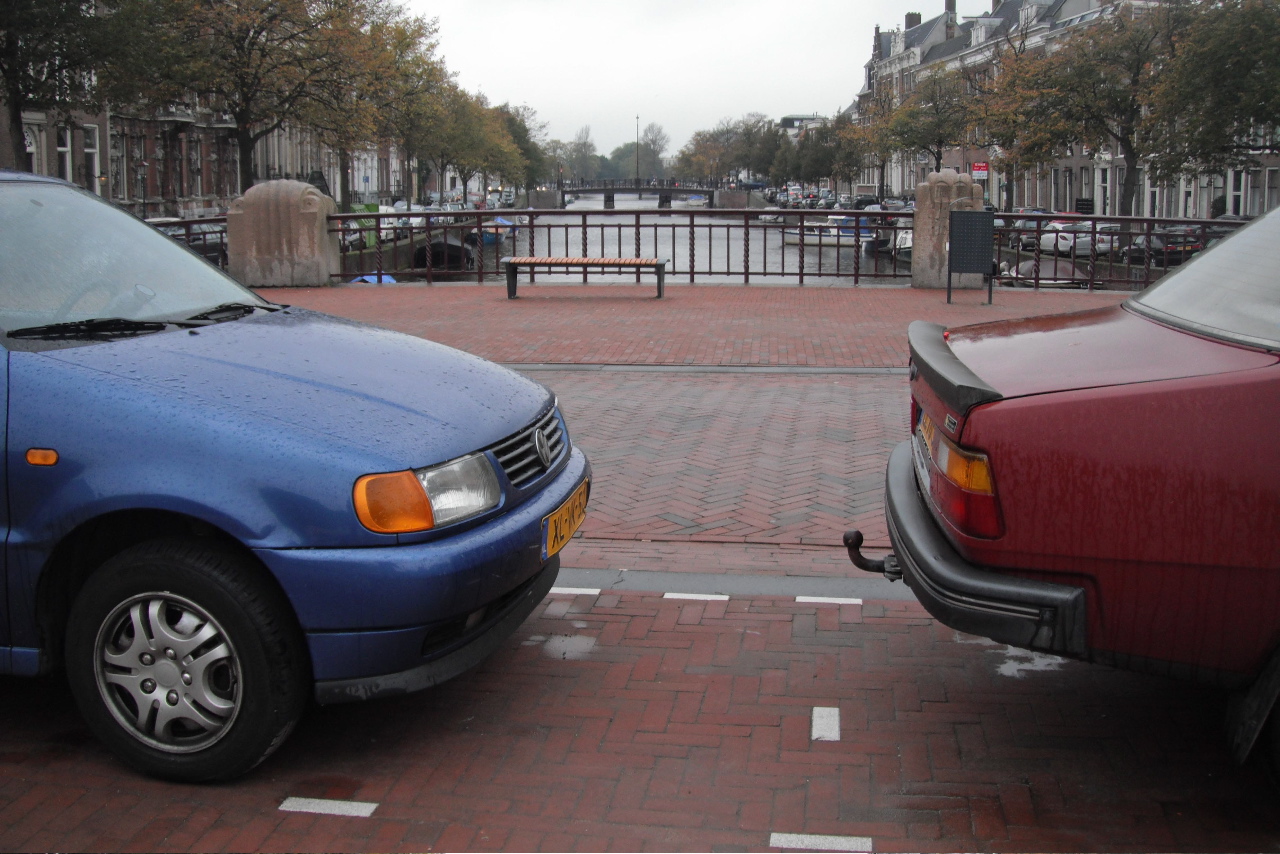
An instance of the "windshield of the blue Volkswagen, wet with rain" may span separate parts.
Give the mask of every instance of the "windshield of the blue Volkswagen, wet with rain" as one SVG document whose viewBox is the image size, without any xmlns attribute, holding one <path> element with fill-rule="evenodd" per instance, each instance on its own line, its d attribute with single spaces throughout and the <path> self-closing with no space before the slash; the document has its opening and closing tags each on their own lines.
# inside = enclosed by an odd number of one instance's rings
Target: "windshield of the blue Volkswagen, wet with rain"
<svg viewBox="0 0 1280 854">
<path fill-rule="evenodd" d="M 269 306 L 214 265 L 92 193 L 0 181 L 0 329 L 119 318 L 177 321 Z"/>
</svg>

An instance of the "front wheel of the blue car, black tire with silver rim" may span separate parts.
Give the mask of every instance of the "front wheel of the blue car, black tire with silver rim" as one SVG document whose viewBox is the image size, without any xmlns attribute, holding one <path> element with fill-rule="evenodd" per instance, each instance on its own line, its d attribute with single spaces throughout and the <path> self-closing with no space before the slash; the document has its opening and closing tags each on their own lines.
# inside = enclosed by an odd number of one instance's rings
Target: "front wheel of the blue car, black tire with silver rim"
<svg viewBox="0 0 1280 854">
<path fill-rule="evenodd" d="M 186 539 L 104 563 L 72 606 L 65 656 L 93 734 L 133 768 L 180 782 L 257 766 L 311 685 L 301 630 L 261 567 Z"/>
</svg>

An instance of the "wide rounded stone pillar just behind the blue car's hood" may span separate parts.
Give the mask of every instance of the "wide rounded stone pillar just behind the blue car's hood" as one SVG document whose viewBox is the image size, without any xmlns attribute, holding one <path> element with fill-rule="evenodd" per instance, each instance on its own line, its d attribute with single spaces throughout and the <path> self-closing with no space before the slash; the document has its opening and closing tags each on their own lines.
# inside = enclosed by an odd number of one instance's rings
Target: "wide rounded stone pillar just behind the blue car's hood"
<svg viewBox="0 0 1280 854">
<path fill-rule="evenodd" d="M 329 286 L 342 271 L 329 215 L 338 206 L 301 181 L 253 184 L 227 213 L 227 268 L 251 288 Z"/>
</svg>

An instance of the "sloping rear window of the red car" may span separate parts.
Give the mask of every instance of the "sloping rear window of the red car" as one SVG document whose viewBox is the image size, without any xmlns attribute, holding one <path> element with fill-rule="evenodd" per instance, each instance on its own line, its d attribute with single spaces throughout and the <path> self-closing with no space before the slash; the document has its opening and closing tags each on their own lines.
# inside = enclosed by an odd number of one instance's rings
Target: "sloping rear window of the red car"
<svg viewBox="0 0 1280 854">
<path fill-rule="evenodd" d="M 1172 326 L 1280 350 L 1280 209 L 1239 229 L 1129 301 Z"/>
</svg>

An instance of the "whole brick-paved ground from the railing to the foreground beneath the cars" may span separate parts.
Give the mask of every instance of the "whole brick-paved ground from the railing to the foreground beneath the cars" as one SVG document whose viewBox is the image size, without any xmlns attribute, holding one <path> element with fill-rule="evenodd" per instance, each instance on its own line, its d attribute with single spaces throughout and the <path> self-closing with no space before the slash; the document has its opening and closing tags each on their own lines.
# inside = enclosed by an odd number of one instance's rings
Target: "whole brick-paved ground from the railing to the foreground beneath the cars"
<svg viewBox="0 0 1280 854">
<path fill-rule="evenodd" d="M 220 786 L 138 777 L 92 740 L 60 677 L 0 679 L 0 849 L 1280 848 L 1280 791 L 1261 763 L 1230 763 L 1225 697 L 960 635 L 840 548 L 851 526 L 887 547 L 881 479 L 906 433 L 910 320 L 1123 294 L 268 296 L 553 388 L 595 466 L 561 588 L 477 670 L 312 708 L 278 754 Z"/>
</svg>

